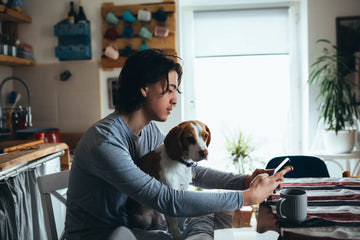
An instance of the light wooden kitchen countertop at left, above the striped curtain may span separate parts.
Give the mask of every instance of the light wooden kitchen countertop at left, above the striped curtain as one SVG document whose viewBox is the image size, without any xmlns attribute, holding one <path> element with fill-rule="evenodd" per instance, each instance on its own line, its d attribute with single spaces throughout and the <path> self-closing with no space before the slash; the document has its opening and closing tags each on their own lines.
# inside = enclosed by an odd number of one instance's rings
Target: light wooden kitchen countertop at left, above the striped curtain
<svg viewBox="0 0 360 240">
<path fill-rule="evenodd" d="M 62 150 L 65 154 L 60 157 L 61 170 L 70 169 L 70 153 L 66 143 L 42 143 L 0 155 L 0 172 Z"/>
</svg>

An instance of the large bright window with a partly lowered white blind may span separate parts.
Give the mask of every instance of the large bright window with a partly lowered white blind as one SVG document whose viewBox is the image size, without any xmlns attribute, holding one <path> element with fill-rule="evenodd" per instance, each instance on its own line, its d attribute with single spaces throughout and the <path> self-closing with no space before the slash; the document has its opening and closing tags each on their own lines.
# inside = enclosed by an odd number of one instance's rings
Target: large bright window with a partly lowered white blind
<svg viewBox="0 0 360 240">
<path fill-rule="evenodd" d="M 263 162 L 300 151 L 294 140 L 300 138 L 294 124 L 299 126 L 301 101 L 291 70 L 289 12 L 281 7 L 187 15 L 191 29 L 182 35 L 181 45 L 184 118 L 201 120 L 212 132 L 205 165 L 231 169 L 225 139 L 238 131 L 251 137 L 256 147 L 252 157 Z M 264 163 L 259 161 L 258 167 Z"/>
</svg>

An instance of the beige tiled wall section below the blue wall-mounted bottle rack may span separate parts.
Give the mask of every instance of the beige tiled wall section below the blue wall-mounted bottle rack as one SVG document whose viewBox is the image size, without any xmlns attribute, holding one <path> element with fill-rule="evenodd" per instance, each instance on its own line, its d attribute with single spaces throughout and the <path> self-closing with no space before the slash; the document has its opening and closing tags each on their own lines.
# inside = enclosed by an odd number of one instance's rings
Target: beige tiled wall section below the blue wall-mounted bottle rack
<svg viewBox="0 0 360 240">
<path fill-rule="evenodd" d="M 72 76 L 60 81 L 59 75 L 65 70 Z M 41 64 L 16 68 L 14 72 L 29 85 L 34 127 L 84 132 L 101 118 L 96 62 Z"/>
</svg>

